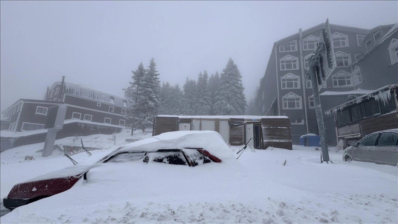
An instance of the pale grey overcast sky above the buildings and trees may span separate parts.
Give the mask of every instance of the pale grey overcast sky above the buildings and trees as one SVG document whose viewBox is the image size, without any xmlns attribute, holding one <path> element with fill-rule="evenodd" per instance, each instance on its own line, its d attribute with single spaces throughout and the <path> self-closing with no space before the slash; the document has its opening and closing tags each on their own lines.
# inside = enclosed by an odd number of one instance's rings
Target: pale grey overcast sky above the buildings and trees
<svg viewBox="0 0 398 224">
<path fill-rule="evenodd" d="M 398 1 L 1 1 L 0 110 L 43 99 L 56 81 L 123 96 L 155 58 L 161 81 L 224 69 L 232 57 L 254 96 L 273 43 L 326 21 L 371 29 L 398 22 Z"/>
</svg>

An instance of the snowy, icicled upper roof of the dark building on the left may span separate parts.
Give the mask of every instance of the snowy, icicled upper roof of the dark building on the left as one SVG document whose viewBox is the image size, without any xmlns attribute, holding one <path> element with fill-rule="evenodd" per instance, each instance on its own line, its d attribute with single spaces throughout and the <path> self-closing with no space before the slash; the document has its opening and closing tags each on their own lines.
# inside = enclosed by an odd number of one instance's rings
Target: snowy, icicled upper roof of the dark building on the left
<svg viewBox="0 0 398 224">
<path fill-rule="evenodd" d="M 56 82 L 55 84 L 61 84 L 61 83 L 60 82 Z M 123 100 L 127 101 L 127 105 L 129 105 L 129 100 L 127 100 L 124 97 L 111 95 L 111 94 L 108 94 L 106 92 L 101 92 L 101 91 L 98 91 L 98 90 L 94 90 L 94 89 L 88 88 L 88 87 L 83 86 L 83 85 L 78 85 L 78 84 L 73 84 L 73 83 L 66 83 L 65 82 L 65 94 L 81 96 L 81 97 L 84 97 L 84 98 L 98 100 L 98 101 L 106 102 L 106 103 L 109 103 L 109 104 L 112 104 L 110 97 L 113 96 L 114 101 L 115 101 L 115 103 L 114 103 L 115 105 L 123 106 Z"/>
</svg>

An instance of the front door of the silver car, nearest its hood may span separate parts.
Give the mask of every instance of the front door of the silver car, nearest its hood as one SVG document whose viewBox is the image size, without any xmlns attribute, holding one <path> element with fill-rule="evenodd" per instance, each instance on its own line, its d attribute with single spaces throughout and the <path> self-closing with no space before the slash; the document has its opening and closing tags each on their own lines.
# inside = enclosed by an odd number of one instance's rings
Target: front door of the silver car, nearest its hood
<svg viewBox="0 0 398 224">
<path fill-rule="evenodd" d="M 354 147 L 354 158 L 355 160 L 364 162 L 373 162 L 373 148 L 379 134 L 371 134 L 366 136 L 358 142 L 358 146 Z"/>
</svg>

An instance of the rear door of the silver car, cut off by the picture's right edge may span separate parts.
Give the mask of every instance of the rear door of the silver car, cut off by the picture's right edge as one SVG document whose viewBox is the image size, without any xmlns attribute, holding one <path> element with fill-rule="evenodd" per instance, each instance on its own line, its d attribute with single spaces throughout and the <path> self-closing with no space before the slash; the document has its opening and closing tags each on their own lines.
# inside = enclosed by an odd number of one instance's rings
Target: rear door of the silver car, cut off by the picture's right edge
<svg viewBox="0 0 398 224">
<path fill-rule="evenodd" d="M 395 165 L 398 163 L 398 134 L 381 133 L 373 149 L 375 163 Z"/>
</svg>

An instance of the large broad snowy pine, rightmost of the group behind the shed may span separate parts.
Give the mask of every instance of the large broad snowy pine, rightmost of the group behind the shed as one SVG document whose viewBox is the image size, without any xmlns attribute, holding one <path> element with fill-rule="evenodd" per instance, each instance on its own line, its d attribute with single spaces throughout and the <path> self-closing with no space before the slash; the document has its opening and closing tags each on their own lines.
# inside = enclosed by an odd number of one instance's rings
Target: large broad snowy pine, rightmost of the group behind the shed
<svg viewBox="0 0 398 224">
<path fill-rule="evenodd" d="M 215 114 L 243 115 L 247 106 L 243 91 L 242 75 L 232 58 L 229 58 L 228 64 L 220 75 Z"/>
</svg>

